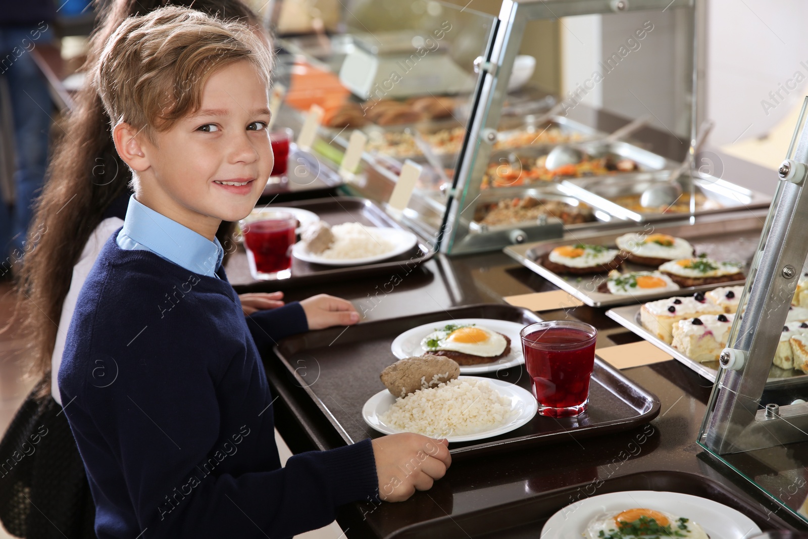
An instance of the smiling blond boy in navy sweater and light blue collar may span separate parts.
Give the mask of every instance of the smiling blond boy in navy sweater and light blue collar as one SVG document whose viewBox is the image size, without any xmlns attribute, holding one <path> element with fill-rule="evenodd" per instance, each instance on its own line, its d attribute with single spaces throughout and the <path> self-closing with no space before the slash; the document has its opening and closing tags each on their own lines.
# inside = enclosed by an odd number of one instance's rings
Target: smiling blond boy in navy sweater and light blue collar
<svg viewBox="0 0 808 539">
<path fill-rule="evenodd" d="M 401 434 L 280 469 L 273 398 L 214 242 L 271 172 L 270 69 L 246 27 L 175 7 L 124 21 L 95 69 L 135 195 L 78 297 L 59 389 L 100 539 L 288 537 L 342 503 L 426 490 L 451 462 L 445 440 Z M 350 311 L 313 299 L 267 330 Z"/>
</svg>

